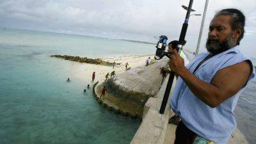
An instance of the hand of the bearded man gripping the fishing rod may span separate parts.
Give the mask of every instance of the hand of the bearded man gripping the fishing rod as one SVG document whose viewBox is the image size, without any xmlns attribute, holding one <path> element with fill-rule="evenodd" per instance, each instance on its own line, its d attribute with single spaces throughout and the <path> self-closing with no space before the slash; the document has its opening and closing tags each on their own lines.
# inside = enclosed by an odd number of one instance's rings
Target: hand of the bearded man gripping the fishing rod
<svg viewBox="0 0 256 144">
<path fill-rule="evenodd" d="M 183 58 L 181 58 L 176 49 L 168 49 L 168 52 L 173 52 L 172 54 L 169 54 L 171 58 L 169 61 L 170 68 L 180 75 L 180 73 L 186 69 Z"/>
</svg>

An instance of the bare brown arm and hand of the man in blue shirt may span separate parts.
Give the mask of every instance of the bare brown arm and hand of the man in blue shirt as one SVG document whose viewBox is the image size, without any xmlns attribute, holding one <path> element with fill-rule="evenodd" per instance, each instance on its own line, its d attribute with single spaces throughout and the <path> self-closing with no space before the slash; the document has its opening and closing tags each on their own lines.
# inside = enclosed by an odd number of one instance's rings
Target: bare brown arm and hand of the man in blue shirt
<svg viewBox="0 0 256 144">
<path fill-rule="evenodd" d="M 188 85 L 189 90 L 211 108 L 215 108 L 243 88 L 251 74 L 250 63 L 242 61 L 219 70 L 209 84 L 198 79 L 184 67 L 183 59 L 176 50 L 169 65 Z"/>
</svg>

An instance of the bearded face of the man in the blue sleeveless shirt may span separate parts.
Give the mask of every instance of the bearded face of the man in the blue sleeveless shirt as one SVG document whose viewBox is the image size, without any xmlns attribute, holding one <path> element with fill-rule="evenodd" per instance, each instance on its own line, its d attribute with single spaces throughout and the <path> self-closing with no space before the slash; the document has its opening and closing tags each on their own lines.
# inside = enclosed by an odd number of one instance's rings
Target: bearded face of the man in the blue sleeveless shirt
<svg viewBox="0 0 256 144">
<path fill-rule="evenodd" d="M 212 19 L 206 43 L 207 51 L 218 54 L 236 45 L 236 30 L 231 28 L 231 19 L 231 15 L 219 15 Z"/>
</svg>

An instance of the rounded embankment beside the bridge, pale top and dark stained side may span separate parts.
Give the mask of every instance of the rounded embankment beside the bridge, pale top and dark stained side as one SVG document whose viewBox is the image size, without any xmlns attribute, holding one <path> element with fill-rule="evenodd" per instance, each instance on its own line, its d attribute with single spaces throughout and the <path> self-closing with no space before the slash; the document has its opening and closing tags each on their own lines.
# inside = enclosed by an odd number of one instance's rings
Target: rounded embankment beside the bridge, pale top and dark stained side
<svg viewBox="0 0 256 144">
<path fill-rule="evenodd" d="M 148 98 L 155 97 L 159 92 L 162 81 L 159 68 L 166 66 L 167 61 L 161 60 L 148 67 L 132 68 L 108 79 L 95 87 L 95 97 L 106 108 L 132 118 L 141 118 Z M 104 99 L 99 99 L 103 86 L 108 88 L 108 92 Z"/>
</svg>

